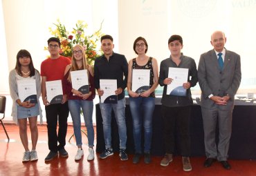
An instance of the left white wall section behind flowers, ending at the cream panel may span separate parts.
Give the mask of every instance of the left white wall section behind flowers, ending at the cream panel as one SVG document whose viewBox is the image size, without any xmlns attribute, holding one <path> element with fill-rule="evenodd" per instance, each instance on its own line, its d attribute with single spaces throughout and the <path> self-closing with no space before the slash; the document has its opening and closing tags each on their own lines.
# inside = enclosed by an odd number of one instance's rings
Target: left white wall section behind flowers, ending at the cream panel
<svg viewBox="0 0 256 176">
<path fill-rule="evenodd" d="M 48 28 L 54 28 L 57 19 L 68 31 L 75 28 L 77 20 L 88 23 L 91 35 L 102 25 L 102 32 L 113 35 L 118 41 L 118 3 L 117 0 L 3 0 L 0 3 L 0 37 L 1 37 L 1 86 L 0 94 L 8 95 L 8 73 L 15 68 L 16 55 L 21 49 L 30 52 L 37 70 L 48 56 L 44 50 L 47 39 L 51 36 Z M 109 10 L 111 9 L 111 10 Z M 4 31 L 6 30 L 6 32 Z M 5 39 L 6 38 L 6 39 Z M 115 48 L 118 50 L 118 46 Z M 3 51 L 3 52 L 2 52 Z M 95 103 L 98 97 L 95 98 Z M 12 104 L 8 96 L 8 104 Z M 7 107 L 6 119 L 10 120 L 11 106 Z M 44 109 L 44 106 L 42 106 Z M 44 115 L 45 120 L 45 115 Z M 68 119 L 71 121 L 71 118 Z"/>
</svg>

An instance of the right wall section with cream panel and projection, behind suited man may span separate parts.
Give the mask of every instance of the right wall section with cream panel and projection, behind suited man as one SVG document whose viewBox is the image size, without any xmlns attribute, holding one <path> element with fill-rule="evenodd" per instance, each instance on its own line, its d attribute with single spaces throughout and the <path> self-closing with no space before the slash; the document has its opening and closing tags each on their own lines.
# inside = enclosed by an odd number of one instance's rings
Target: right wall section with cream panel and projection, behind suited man
<svg viewBox="0 0 256 176">
<path fill-rule="evenodd" d="M 212 49 L 210 35 L 226 33 L 226 48 L 241 55 L 242 80 L 239 92 L 256 89 L 256 1 L 250 0 L 130 0 L 118 1 L 120 52 L 135 56 L 133 42 L 145 37 L 148 55 L 158 63 L 170 56 L 171 35 L 183 37 L 183 54 L 199 62 Z M 199 90 L 199 86 L 196 86 Z"/>
</svg>

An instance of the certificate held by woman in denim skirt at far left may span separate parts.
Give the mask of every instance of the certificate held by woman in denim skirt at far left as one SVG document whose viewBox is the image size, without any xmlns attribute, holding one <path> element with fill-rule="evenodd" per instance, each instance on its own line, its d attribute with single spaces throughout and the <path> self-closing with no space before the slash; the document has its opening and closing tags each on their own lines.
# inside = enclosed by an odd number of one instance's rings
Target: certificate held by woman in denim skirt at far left
<svg viewBox="0 0 256 176">
<path fill-rule="evenodd" d="M 17 85 L 21 102 L 29 101 L 31 104 L 37 103 L 37 86 L 35 79 L 17 80 Z"/>
</svg>

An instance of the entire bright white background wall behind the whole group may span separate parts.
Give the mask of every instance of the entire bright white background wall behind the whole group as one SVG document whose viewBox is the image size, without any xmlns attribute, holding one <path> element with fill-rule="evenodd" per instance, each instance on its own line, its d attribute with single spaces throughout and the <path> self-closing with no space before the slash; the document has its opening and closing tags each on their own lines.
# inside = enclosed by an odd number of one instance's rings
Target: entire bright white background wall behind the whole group
<svg viewBox="0 0 256 176">
<path fill-rule="evenodd" d="M 57 19 L 69 31 L 77 20 L 84 20 L 89 34 L 104 20 L 102 32 L 113 36 L 114 51 L 127 60 L 136 56 L 132 48 L 136 37 L 145 37 L 148 55 L 158 59 L 158 64 L 170 55 L 167 40 L 171 35 L 183 37 L 184 55 L 198 63 L 201 53 L 212 49 L 212 32 L 223 30 L 226 48 L 241 55 L 239 92 L 255 92 L 255 9 L 256 1 L 252 0 L 2 0 L 0 94 L 9 93 L 8 72 L 15 67 L 20 49 L 31 53 L 35 68 L 40 70 L 48 55 L 44 51 L 51 37 L 48 28 L 54 27 Z"/>
</svg>

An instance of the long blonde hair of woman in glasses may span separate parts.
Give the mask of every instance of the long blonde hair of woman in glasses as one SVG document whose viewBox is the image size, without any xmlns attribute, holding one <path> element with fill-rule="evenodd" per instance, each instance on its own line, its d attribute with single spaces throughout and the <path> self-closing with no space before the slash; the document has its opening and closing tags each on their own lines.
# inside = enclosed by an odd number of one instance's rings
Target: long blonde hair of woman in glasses
<svg viewBox="0 0 256 176">
<path fill-rule="evenodd" d="M 83 46 L 81 46 L 81 45 L 76 45 L 76 46 L 73 47 L 73 49 L 75 47 L 78 47 L 80 50 L 82 50 L 82 70 L 87 69 L 87 73 L 89 74 L 89 72 L 88 72 L 89 64 L 87 62 L 87 57 L 86 57 L 86 54 L 85 54 L 85 50 L 86 49 Z M 76 71 L 76 70 L 81 70 L 81 68 L 78 68 L 76 60 L 75 60 L 75 56 L 74 56 L 74 54 L 72 54 L 70 72 Z M 69 72 L 69 75 L 68 75 L 68 81 L 69 82 L 71 82 L 71 74 L 70 74 L 70 72 Z"/>
</svg>

